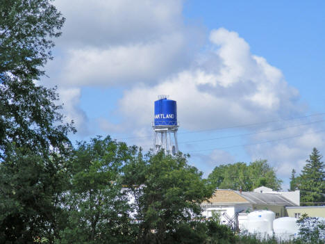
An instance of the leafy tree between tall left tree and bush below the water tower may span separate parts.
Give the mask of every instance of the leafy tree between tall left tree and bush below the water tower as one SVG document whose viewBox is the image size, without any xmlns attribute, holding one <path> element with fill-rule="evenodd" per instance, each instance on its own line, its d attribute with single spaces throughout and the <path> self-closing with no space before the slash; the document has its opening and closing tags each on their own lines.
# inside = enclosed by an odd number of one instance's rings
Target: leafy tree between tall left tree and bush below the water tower
<svg viewBox="0 0 325 244">
<path fill-rule="evenodd" d="M 58 243 L 130 243 L 131 208 L 122 190 L 121 170 L 135 152 L 107 137 L 78 143 L 72 185 L 65 194 L 67 227 Z"/>
</svg>

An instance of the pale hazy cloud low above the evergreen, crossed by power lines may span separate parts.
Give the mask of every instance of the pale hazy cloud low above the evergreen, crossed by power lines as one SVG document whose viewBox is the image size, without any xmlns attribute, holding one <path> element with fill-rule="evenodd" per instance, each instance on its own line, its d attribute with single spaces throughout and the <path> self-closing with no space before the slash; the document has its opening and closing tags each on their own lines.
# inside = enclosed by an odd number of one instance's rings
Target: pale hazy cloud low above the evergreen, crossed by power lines
<svg viewBox="0 0 325 244">
<path fill-rule="evenodd" d="M 288 127 L 288 125 L 285 126 Z M 284 138 L 288 139 L 282 140 Z M 269 163 L 276 168 L 280 177 L 289 178 L 292 169 L 298 173 L 301 172 L 313 147 L 319 149 L 321 154 L 325 153 L 322 152 L 325 147 L 324 138 L 324 125 L 310 124 L 254 136 L 251 138 L 253 141 L 278 141 L 250 146 L 247 147 L 247 151 L 252 158 L 267 158 Z"/>
</svg>

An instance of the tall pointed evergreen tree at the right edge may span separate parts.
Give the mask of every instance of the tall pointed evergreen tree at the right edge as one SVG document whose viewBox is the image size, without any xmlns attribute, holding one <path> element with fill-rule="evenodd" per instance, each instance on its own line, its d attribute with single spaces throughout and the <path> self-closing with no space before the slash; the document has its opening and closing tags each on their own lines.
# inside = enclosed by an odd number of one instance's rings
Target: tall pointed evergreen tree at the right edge
<svg viewBox="0 0 325 244">
<path fill-rule="evenodd" d="M 325 202 L 325 165 L 322 157 L 314 147 L 297 179 L 301 202 Z"/>
</svg>

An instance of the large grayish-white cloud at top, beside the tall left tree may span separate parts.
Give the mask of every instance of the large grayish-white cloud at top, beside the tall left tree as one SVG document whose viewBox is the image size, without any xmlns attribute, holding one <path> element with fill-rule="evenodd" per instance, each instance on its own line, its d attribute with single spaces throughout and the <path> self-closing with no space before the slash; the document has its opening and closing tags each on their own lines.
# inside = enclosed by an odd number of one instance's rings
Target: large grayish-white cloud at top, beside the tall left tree
<svg viewBox="0 0 325 244">
<path fill-rule="evenodd" d="M 56 1 L 67 18 L 49 63 L 63 86 L 153 84 L 184 69 L 204 39 L 185 26 L 182 1 Z M 190 40 L 190 41 L 189 41 Z"/>
</svg>

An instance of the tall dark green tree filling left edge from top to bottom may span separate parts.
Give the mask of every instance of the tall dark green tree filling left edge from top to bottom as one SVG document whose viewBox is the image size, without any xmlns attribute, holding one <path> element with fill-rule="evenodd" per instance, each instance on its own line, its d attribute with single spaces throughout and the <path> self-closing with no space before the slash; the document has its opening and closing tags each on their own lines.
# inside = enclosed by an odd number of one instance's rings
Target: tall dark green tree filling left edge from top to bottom
<svg viewBox="0 0 325 244">
<path fill-rule="evenodd" d="M 58 234 L 66 190 L 67 138 L 55 89 L 38 86 L 64 18 L 51 0 L 0 3 L 0 234 L 33 243 Z"/>
</svg>

